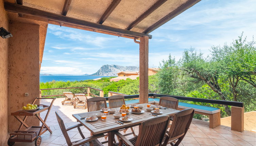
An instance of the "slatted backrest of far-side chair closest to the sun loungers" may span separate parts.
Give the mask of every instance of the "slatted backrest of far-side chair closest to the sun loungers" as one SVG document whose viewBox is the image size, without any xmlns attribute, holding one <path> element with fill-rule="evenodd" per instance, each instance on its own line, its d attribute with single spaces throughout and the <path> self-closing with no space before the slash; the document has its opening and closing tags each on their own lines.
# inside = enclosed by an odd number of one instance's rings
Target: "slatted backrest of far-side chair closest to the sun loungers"
<svg viewBox="0 0 256 146">
<path fill-rule="evenodd" d="M 101 108 L 107 108 L 107 101 L 104 97 L 93 97 L 87 99 L 88 112 L 97 111 Z"/>
</svg>

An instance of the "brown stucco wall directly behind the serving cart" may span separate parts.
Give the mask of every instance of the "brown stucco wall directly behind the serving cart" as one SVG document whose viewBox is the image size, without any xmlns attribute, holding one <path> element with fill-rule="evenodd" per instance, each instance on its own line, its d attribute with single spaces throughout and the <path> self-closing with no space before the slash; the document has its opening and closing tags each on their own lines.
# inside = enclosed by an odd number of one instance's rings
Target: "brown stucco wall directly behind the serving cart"
<svg viewBox="0 0 256 146">
<path fill-rule="evenodd" d="M 20 125 L 11 112 L 39 97 L 39 25 L 12 20 L 9 29 L 13 35 L 8 50 L 8 129 L 11 132 Z M 25 92 L 29 96 L 24 96 Z M 29 117 L 26 123 L 36 126 L 39 120 Z"/>
</svg>

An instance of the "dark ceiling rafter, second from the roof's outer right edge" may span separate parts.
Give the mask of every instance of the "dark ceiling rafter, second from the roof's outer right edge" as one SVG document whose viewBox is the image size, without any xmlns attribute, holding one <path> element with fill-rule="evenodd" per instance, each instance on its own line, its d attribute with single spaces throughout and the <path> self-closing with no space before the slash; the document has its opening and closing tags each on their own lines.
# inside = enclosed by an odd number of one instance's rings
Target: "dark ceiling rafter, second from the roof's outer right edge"
<svg viewBox="0 0 256 146">
<path fill-rule="evenodd" d="M 143 19 L 148 17 L 152 12 L 154 12 L 159 6 L 164 4 L 167 0 L 158 0 L 154 5 L 152 5 L 146 12 L 144 12 L 142 15 L 140 15 L 135 21 L 133 21 L 126 30 L 131 30 L 134 26 L 136 26 L 139 22 L 141 22 Z"/>
</svg>

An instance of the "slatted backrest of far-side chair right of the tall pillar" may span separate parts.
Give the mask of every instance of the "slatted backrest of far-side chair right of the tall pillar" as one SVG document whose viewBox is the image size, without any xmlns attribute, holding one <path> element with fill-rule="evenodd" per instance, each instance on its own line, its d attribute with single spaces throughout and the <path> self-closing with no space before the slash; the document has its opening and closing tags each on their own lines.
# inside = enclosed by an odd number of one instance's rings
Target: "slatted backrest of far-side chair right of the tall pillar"
<svg viewBox="0 0 256 146">
<path fill-rule="evenodd" d="M 166 108 L 171 108 L 171 109 L 178 109 L 178 99 L 173 98 L 173 97 L 160 97 L 159 105 L 166 107 Z"/>
</svg>

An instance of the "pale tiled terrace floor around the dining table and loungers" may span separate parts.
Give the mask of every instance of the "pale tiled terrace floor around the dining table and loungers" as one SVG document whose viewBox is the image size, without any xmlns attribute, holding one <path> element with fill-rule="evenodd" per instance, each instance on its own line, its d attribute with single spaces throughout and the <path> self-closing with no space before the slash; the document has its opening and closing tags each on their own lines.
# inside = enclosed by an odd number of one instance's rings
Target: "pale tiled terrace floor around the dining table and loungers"
<svg viewBox="0 0 256 146">
<path fill-rule="evenodd" d="M 55 116 L 55 111 L 58 111 L 59 115 L 63 118 L 66 128 L 72 125 L 78 124 L 76 120 L 72 117 L 72 114 L 87 112 L 87 109 L 76 108 L 74 109 L 71 105 L 62 105 L 61 101 L 64 98 L 57 98 L 54 101 L 51 112 L 48 116 L 46 123 L 50 126 L 53 131 L 50 134 L 48 131 L 42 135 L 42 143 L 40 146 L 67 146 L 66 140 L 58 126 L 58 122 Z M 49 105 L 49 102 L 44 100 L 41 104 Z M 41 117 L 44 117 L 46 112 L 42 112 Z M 209 128 L 209 123 L 197 119 L 193 119 L 190 129 L 186 134 L 180 146 L 256 146 L 255 137 L 256 133 L 251 131 L 237 132 L 231 130 L 231 127 L 220 125 L 214 129 Z M 89 130 L 81 127 L 82 132 L 85 137 L 90 136 Z M 129 129 L 130 130 L 130 129 Z M 127 132 L 130 132 L 127 130 Z M 138 134 L 139 127 L 135 127 L 135 133 Z M 123 133 L 123 132 L 121 132 Z M 72 129 L 68 131 L 71 141 L 82 139 L 77 129 Z M 127 136 L 127 138 L 132 138 L 132 135 Z M 104 137 L 99 139 L 99 141 L 106 141 Z M 34 146 L 33 143 L 15 143 L 15 146 Z M 104 144 L 107 145 L 107 144 Z"/>
</svg>

